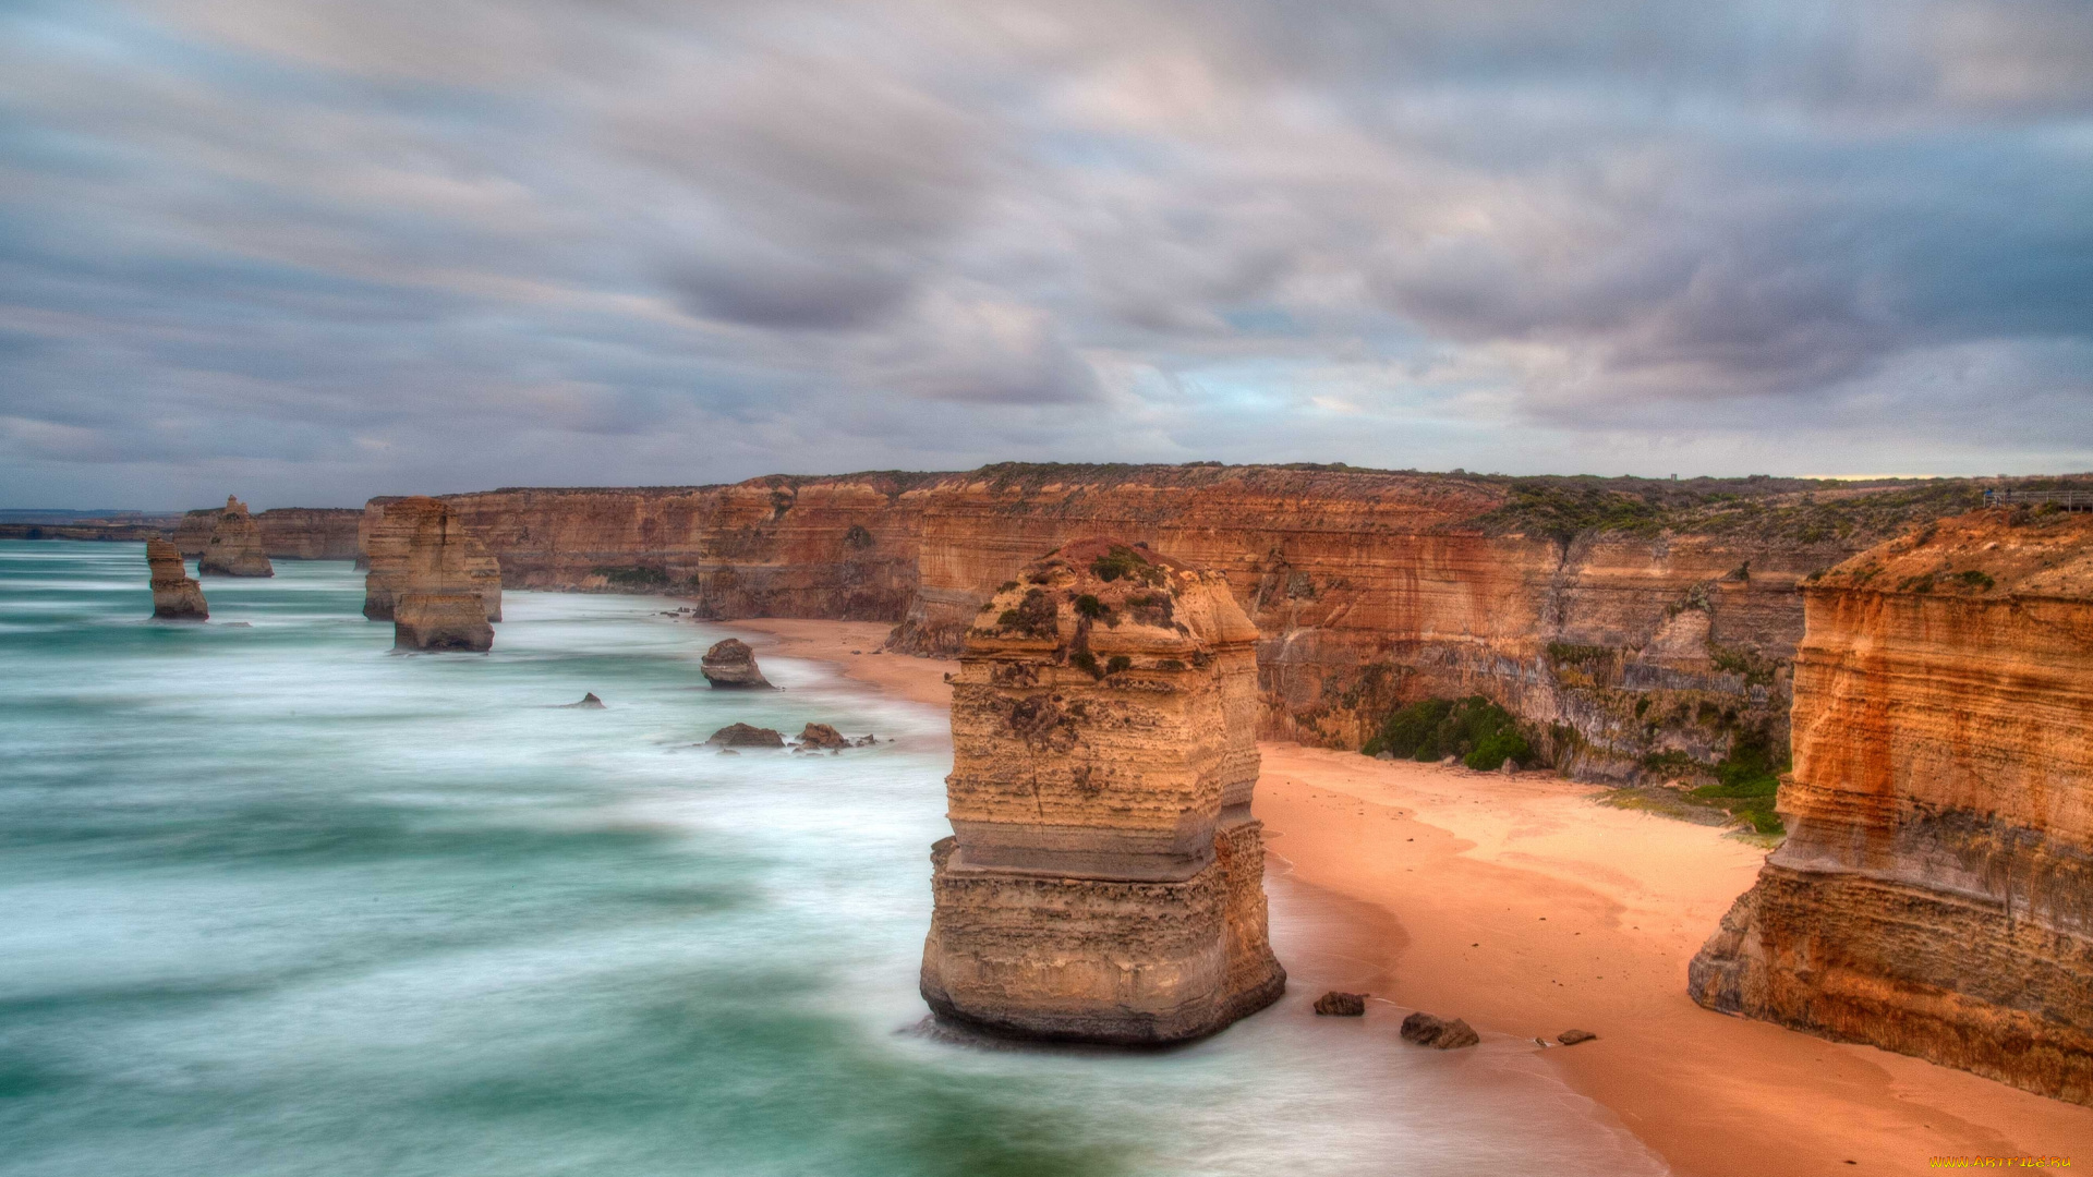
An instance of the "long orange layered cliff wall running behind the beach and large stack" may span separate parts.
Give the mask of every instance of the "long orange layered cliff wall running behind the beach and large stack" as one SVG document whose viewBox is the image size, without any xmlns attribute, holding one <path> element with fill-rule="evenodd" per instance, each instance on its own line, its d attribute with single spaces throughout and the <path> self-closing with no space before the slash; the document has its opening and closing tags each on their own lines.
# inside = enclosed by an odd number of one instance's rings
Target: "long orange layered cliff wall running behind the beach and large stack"
<svg viewBox="0 0 2093 1177">
<path fill-rule="evenodd" d="M 1708 764 L 1746 731 L 1779 746 L 1796 584 L 1894 534 L 1838 515 L 1871 490 L 1760 484 L 1729 490 L 1764 511 L 1676 530 L 1593 530 L 1507 480 L 1327 467 L 998 465 L 446 501 L 511 584 L 691 593 L 705 618 L 896 620 L 894 649 L 913 653 L 959 653 L 1036 553 L 1120 534 L 1226 576 L 1262 635 L 1268 737 L 1358 748 L 1398 702 L 1484 693 L 1557 767 L 1630 779 L 1653 756 Z M 1643 503 L 1578 494 L 1601 513 Z"/>
</svg>

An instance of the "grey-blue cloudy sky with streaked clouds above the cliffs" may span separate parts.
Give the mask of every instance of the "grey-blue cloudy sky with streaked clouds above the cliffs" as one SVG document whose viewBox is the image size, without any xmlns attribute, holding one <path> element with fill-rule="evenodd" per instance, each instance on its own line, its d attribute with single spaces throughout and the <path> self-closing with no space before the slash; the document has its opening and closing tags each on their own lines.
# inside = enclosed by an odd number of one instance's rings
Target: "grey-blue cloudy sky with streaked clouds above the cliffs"
<svg viewBox="0 0 2093 1177">
<path fill-rule="evenodd" d="M 2087 0 L 6 0 L 0 507 L 2093 467 Z"/>
</svg>

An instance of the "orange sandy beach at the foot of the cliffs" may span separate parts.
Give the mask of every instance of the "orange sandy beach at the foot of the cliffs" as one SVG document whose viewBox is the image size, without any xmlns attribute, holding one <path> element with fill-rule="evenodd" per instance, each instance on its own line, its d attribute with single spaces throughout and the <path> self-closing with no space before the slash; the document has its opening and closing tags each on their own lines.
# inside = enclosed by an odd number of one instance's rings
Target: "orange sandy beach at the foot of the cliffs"
<svg viewBox="0 0 2093 1177">
<path fill-rule="evenodd" d="M 879 622 L 751 620 L 758 653 L 833 662 L 944 706 L 952 662 L 873 653 Z M 1932 1156 L 2093 1164 L 2093 1108 L 1875 1047 L 1700 1009 L 1685 970 L 1764 850 L 1723 829 L 1601 804 L 1549 773 L 1469 773 L 1266 743 L 1258 815 L 1273 869 L 1386 913 L 1348 936 L 1383 999 L 1538 1047 L 1685 1177 L 1915 1173 Z M 1363 911 L 1365 911 L 1363 909 Z M 1277 1014 L 1291 1009 L 1291 1003 Z M 1392 1047 L 1409 1049 L 1409 1047 Z"/>
</svg>

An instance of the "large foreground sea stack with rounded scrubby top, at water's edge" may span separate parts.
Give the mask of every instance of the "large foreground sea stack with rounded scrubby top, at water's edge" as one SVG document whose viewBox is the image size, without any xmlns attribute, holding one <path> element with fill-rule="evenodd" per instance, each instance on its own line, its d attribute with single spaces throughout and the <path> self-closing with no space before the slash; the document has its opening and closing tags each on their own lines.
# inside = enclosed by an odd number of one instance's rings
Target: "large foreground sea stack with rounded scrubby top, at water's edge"
<svg viewBox="0 0 2093 1177">
<path fill-rule="evenodd" d="M 923 999 L 1040 1039 L 1170 1043 L 1285 991 L 1266 942 L 1258 630 L 1226 582 L 1076 540 L 967 630 Z"/>
</svg>

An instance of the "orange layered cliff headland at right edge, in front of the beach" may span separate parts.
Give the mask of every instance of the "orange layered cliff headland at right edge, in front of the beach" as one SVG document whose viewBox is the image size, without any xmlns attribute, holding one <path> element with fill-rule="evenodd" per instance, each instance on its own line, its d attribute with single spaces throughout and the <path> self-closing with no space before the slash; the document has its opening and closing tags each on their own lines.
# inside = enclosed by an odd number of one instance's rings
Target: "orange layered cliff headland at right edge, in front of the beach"
<svg viewBox="0 0 2093 1177">
<path fill-rule="evenodd" d="M 1693 999 L 2093 1104 L 2093 515 L 1944 519 L 1804 614 L 1790 836 Z"/>
</svg>

